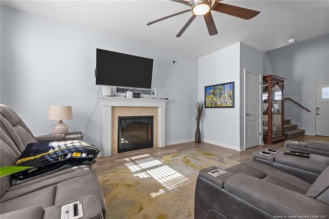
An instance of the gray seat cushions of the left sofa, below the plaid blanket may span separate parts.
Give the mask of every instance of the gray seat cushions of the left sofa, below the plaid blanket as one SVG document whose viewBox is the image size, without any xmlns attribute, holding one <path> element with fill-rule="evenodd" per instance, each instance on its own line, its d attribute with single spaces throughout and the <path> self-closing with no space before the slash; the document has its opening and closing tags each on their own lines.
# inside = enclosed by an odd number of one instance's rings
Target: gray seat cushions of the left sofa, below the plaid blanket
<svg viewBox="0 0 329 219">
<path fill-rule="evenodd" d="M 48 178 L 34 184 L 11 186 L 1 198 L 1 213 L 20 210 L 32 206 L 47 208 L 69 202 L 72 199 L 95 195 L 105 215 L 106 206 L 103 193 L 92 170 L 67 173 L 66 176 Z"/>
</svg>

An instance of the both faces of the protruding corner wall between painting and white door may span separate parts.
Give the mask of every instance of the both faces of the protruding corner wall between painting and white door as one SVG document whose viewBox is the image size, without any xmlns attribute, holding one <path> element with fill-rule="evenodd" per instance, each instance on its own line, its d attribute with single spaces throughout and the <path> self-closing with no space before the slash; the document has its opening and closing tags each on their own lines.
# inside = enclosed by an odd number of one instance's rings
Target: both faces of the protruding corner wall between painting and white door
<svg viewBox="0 0 329 219">
<path fill-rule="evenodd" d="M 234 108 L 205 108 L 202 139 L 237 151 L 244 150 L 244 69 L 263 70 L 263 53 L 236 43 L 199 58 L 198 97 L 205 86 L 234 81 Z"/>
</svg>

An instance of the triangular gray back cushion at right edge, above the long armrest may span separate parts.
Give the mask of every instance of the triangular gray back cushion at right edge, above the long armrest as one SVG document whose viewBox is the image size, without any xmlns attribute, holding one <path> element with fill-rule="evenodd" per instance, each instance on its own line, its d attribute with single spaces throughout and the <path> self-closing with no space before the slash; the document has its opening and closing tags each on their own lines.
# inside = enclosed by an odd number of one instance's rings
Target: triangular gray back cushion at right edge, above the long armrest
<svg viewBox="0 0 329 219">
<path fill-rule="evenodd" d="M 329 167 L 327 167 L 314 181 L 312 186 L 309 187 L 306 196 L 315 198 L 329 205 Z"/>
</svg>

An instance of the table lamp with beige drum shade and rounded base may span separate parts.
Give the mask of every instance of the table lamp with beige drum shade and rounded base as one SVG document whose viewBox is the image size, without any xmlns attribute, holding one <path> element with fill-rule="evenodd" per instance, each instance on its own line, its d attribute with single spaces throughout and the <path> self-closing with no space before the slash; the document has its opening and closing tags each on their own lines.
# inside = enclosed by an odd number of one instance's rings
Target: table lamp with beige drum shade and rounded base
<svg viewBox="0 0 329 219">
<path fill-rule="evenodd" d="M 59 122 L 53 126 L 53 134 L 67 134 L 68 126 L 62 121 L 66 119 L 73 119 L 72 106 L 50 106 L 48 119 L 59 120 Z"/>
</svg>

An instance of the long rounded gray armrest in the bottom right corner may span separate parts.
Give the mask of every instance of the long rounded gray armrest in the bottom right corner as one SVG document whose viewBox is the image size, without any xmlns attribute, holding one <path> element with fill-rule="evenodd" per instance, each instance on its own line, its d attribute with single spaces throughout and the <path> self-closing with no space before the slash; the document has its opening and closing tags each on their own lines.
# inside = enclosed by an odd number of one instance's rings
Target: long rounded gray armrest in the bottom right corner
<svg viewBox="0 0 329 219">
<path fill-rule="evenodd" d="M 315 215 L 329 217 L 328 205 L 306 195 L 239 173 L 224 182 L 224 188 L 273 216 Z"/>
</svg>

